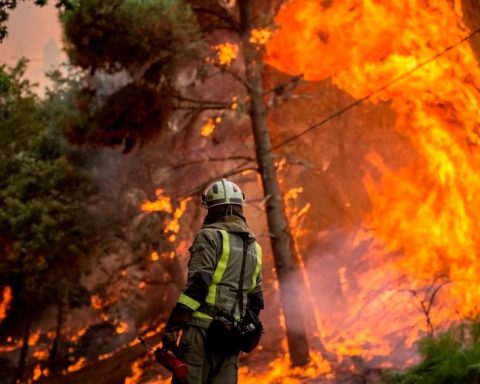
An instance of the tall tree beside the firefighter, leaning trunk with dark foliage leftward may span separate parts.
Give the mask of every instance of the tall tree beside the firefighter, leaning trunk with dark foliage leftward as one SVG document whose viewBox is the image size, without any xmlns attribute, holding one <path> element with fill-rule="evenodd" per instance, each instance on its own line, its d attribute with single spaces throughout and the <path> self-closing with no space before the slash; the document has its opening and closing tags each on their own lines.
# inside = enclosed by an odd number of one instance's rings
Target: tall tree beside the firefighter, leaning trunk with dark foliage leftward
<svg viewBox="0 0 480 384">
<path fill-rule="evenodd" d="M 302 279 L 266 123 L 262 46 L 252 39 L 255 30 L 271 27 L 275 10 L 275 2 L 245 0 L 236 5 L 167 0 L 117 0 L 106 5 L 88 0 L 65 12 L 67 52 L 86 70 L 85 86 L 77 94 L 79 113 L 86 118 L 70 124 L 68 132 L 74 142 L 122 144 L 125 152 L 156 137 L 161 148 L 171 151 L 175 139 L 205 112 L 227 117 L 246 112 L 262 176 L 290 356 L 293 365 L 304 365 L 308 343 L 296 305 Z M 226 46 L 233 52 L 223 61 L 216 57 L 222 47 L 215 42 L 225 38 L 234 44 Z M 235 56 L 236 65 L 230 65 Z M 214 76 L 231 84 L 220 100 L 211 89 L 199 91 L 202 86 L 214 87 L 209 83 Z M 107 86 L 110 91 L 105 91 Z M 239 166 L 233 173 L 241 170 Z"/>
</svg>

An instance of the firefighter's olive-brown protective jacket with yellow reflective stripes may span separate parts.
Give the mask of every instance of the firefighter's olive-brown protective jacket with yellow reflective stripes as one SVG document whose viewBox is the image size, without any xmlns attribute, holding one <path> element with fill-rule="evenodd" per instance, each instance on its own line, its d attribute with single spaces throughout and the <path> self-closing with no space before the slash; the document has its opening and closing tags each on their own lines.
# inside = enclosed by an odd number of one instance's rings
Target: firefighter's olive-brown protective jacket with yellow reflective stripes
<svg viewBox="0 0 480 384">
<path fill-rule="evenodd" d="M 204 225 L 190 248 L 187 285 L 178 299 L 194 311 L 190 325 L 208 328 L 215 311 L 230 314 L 234 308 L 235 318 L 243 316 L 236 298 L 244 244 L 243 302 L 257 312 L 263 309 L 262 249 L 246 223 L 232 215 Z"/>
</svg>

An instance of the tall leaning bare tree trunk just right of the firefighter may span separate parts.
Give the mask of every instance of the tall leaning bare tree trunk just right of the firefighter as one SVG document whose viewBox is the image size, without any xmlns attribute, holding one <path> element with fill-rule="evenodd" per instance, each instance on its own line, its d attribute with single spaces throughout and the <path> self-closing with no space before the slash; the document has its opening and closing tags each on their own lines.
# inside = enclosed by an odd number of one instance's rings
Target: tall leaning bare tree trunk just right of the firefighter
<svg viewBox="0 0 480 384">
<path fill-rule="evenodd" d="M 303 280 L 295 257 L 292 234 L 285 216 L 282 193 L 278 184 L 271 152 L 271 141 L 267 127 L 266 108 L 263 99 L 261 51 L 249 42 L 252 30 L 252 2 L 239 0 L 242 28 L 243 54 L 245 59 L 250 118 L 255 138 L 255 152 L 262 178 L 268 228 L 273 251 L 275 270 L 280 286 L 280 300 L 285 315 L 288 349 L 292 366 L 308 363 L 308 341 L 299 293 Z"/>
</svg>

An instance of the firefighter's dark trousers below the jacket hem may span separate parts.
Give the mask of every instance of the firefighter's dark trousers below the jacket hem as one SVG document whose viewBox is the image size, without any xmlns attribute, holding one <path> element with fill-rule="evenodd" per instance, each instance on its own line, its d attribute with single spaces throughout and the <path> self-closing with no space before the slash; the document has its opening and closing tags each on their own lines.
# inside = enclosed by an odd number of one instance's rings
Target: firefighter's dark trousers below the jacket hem
<svg viewBox="0 0 480 384">
<path fill-rule="evenodd" d="M 188 366 L 188 384 L 236 384 L 238 354 L 233 356 L 207 356 L 205 339 L 207 330 L 187 326 L 180 340 L 179 358 Z M 172 384 L 185 384 L 173 378 Z"/>
</svg>

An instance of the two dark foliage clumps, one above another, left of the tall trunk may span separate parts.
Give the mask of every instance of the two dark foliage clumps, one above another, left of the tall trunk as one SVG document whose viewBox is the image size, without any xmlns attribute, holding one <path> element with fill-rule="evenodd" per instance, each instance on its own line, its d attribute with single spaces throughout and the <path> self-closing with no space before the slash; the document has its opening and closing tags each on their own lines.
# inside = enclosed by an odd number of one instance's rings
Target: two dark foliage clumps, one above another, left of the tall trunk
<svg viewBox="0 0 480 384">
<path fill-rule="evenodd" d="M 174 74 L 186 59 L 202 57 L 190 7 L 181 0 L 85 0 L 64 12 L 62 23 L 70 62 L 89 71 L 66 120 L 69 140 L 128 152 L 162 132 Z"/>
</svg>

